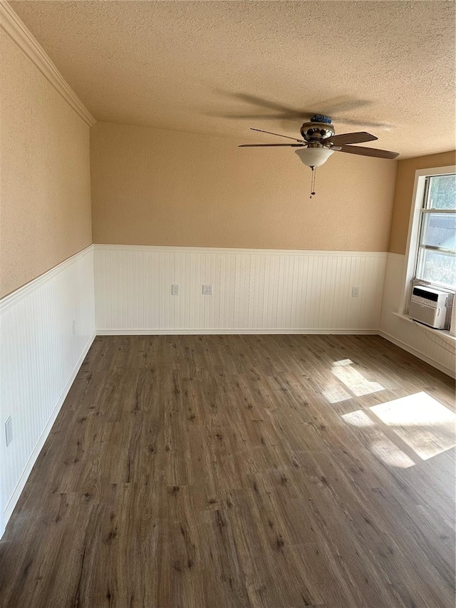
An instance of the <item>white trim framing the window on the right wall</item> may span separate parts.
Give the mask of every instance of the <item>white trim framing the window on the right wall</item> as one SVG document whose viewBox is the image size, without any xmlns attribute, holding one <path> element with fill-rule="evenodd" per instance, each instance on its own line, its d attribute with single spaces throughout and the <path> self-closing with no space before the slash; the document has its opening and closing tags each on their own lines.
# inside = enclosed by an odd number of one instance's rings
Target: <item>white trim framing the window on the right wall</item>
<svg viewBox="0 0 456 608">
<path fill-rule="evenodd" d="M 412 210 L 408 225 L 407 249 L 405 249 L 405 264 L 403 277 L 403 294 L 400 302 L 400 314 L 408 316 L 408 304 L 410 302 L 410 291 L 412 279 L 415 277 L 416 261 L 418 257 L 418 237 L 420 232 L 420 210 L 423 205 L 426 177 L 432 175 L 447 175 L 456 173 L 456 165 L 447 167 L 432 167 L 429 169 L 418 169 L 415 171 L 415 184 L 413 186 Z M 455 303 L 456 304 L 456 303 Z M 431 329 L 431 328 L 430 328 Z M 441 331 L 441 330 L 434 330 Z M 456 335 L 456 305 L 453 306 L 451 329 L 452 336 Z"/>
</svg>

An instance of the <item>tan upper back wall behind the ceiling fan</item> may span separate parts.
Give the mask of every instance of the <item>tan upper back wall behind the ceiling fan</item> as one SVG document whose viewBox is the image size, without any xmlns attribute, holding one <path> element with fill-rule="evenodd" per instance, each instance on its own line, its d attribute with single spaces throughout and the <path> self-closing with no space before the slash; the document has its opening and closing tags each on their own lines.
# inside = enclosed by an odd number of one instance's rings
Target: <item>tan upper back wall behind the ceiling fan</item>
<svg viewBox="0 0 456 608">
<path fill-rule="evenodd" d="M 96 243 L 388 247 L 395 161 L 335 153 L 309 200 L 311 170 L 293 148 L 96 123 L 90 159 Z"/>
</svg>

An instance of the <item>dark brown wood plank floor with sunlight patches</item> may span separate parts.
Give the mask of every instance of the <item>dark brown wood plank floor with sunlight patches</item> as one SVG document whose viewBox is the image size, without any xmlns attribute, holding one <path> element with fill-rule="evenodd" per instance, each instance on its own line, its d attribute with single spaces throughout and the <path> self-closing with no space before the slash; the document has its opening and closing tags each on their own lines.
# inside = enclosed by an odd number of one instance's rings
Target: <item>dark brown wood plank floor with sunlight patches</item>
<svg viewBox="0 0 456 608">
<path fill-rule="evenodd" d="M 378 336 L 99 337 L 0 605 L 453 608 L 453 385 Z"/>
</svg>

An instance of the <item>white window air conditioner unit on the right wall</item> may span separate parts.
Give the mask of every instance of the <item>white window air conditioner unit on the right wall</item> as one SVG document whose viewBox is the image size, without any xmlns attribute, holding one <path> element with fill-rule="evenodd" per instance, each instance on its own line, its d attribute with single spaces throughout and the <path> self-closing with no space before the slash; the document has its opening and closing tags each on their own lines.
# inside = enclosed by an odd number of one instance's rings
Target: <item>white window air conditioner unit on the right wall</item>
<svg viewBox="0 0 456 608">
<path fill-rule="evenodd" d="M 452 308 L 453 295 L 439 289 L 416 285 L 412 289 L 408 315 L 435 329 L 445 329 Z"/>
</svg>

